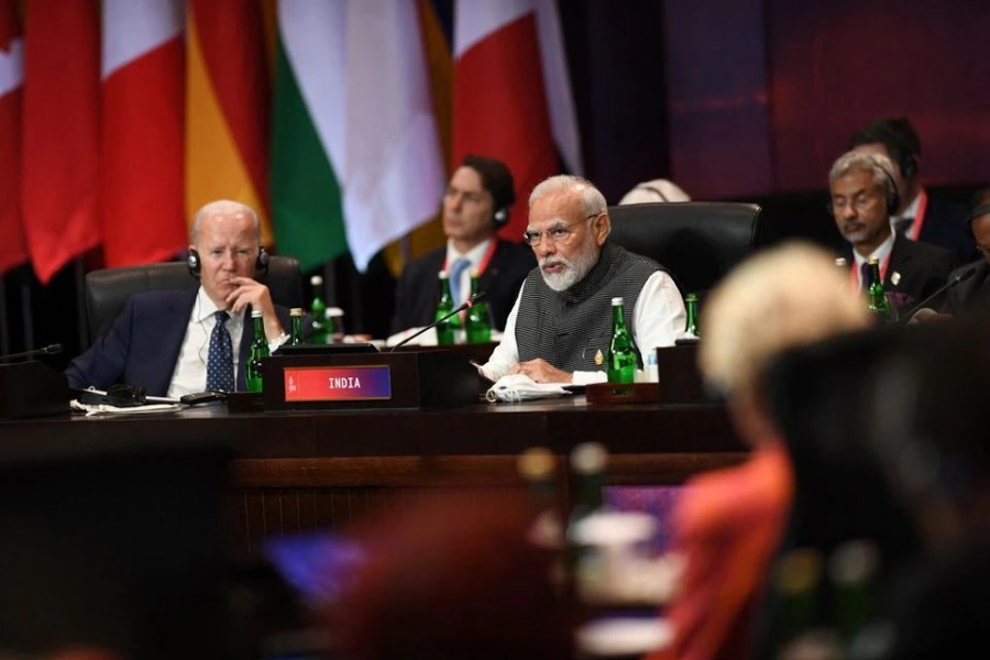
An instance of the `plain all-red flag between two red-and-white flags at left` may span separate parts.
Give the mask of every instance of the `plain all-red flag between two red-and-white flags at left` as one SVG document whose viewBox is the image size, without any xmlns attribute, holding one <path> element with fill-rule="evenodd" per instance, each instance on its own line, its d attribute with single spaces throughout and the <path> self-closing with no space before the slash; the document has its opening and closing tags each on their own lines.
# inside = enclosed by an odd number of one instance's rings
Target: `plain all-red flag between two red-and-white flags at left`
<svg viewBox="0 0 990 660">
<path fill-rule="evenodd" d="M 22 204 L 46 284 L 99 243 L 99 15 L 94 0 L 35 0 L 26 10 Z"/>
</svg>

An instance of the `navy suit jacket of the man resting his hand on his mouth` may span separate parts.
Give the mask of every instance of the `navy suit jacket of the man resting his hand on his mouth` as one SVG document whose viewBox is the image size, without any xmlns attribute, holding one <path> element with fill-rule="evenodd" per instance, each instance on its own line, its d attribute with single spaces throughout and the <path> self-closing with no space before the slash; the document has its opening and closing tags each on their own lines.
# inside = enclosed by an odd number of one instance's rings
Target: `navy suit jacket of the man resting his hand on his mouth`
<svg viewBox="0 0 990 660">
<path fill-rule="evenodd" d="M 92 346 L 65 371 L 69 387 L 90 385 L 107 389 L 117 383 L 143 385 L 152 396 L 165 396 L 175 371 L 198 288 L 135 294 L 124 310 Z M 275 308 L 283 328 L 289 328 L 288 309 Z M 248 310 L 248 322 L 251 310 Z M 238 391 L 245 392 L 244 365 L 251 348 L 245 327 L 238 350 Z"/>
</svg>

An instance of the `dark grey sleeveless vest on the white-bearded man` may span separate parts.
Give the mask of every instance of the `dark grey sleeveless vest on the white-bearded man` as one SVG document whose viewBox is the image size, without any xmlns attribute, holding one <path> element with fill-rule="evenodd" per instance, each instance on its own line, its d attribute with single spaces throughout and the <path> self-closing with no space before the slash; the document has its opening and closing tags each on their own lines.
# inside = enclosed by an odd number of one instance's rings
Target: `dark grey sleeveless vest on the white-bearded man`
<svg viewBox="0 0 990 660">
<path fill-rule="evenodd" d="M 650 275 L 662 270 L 657 262 L 607 241 L 584 279 L 566 290 L 554 292 L 540 270 L 534 268 L 526 277 L 516 317 L 519 361 L 542 358 L 566 372 L 604 371 L 595 356 L 601 351 L 605 358 L 612 343 L 612 298 L 624 298 L 626 327 L 632 334 L 632 308 L 639 293 Z M 640 361 L 638 346 L 636 356 Z"/>
</svg>

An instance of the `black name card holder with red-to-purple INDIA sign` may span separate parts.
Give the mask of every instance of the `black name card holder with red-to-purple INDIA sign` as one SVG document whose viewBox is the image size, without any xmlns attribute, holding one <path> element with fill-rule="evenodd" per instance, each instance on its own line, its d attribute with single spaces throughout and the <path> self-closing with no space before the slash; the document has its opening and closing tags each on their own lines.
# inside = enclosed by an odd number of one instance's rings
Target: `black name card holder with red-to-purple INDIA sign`
<svg viewBox="0 0 990 660">
<path fill-rule="evenodd" d="M 266 410 L 433 408 L 477 402 L 477 372 L 450 351 L 278 355 L 263 362 Z"/>
</svg>

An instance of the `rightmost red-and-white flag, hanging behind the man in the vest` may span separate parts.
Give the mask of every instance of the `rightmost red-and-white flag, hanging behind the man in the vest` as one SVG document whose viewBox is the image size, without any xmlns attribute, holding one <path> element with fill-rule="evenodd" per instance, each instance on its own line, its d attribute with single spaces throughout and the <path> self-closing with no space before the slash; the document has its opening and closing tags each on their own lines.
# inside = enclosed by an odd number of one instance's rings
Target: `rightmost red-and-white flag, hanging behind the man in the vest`
<svg viewBox="0 0 990 660">
<path fill-rule="evenodd" d="M 543 85 L 536 9 L 528 2 L 460 2 L 455 22 L 453 163 L 503 161 L 517 201 L 499 232 L 519 241 L 529 193 L 559 172 Z"/>
</svg>

